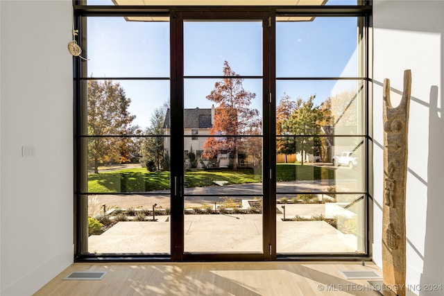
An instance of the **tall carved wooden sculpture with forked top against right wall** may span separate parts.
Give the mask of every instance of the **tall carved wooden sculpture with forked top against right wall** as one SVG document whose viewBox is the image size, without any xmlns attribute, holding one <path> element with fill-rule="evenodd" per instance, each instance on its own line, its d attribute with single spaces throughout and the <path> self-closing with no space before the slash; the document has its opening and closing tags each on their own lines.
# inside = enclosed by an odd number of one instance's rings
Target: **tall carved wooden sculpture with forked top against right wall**
<svg viewBox="0 0 444 296">
<path fill-rule="evenodd" d="M 390 80 L 384 80 L 384 204 L 382 273 L 384 295 L 405 295 L 407 134 L 411 71 L 404 71 L 401 103 L 392 107 Z"/>
</svg>

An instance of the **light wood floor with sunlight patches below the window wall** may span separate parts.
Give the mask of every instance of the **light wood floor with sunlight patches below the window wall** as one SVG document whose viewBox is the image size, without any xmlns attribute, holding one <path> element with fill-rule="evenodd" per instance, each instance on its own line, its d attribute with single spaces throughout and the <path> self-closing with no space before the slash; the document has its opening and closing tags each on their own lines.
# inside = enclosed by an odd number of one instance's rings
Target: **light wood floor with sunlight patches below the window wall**
<svg viewBox="0 0 444 296">
<path fill-rule="evenodd" d="M 366 262 L 74 263 L 35 296 L 51 295 L 380 295 L 368 279 L 341 270 Z M 106 271 L 101 280 L 64 280 L 73 271 Z"/>
</svg>

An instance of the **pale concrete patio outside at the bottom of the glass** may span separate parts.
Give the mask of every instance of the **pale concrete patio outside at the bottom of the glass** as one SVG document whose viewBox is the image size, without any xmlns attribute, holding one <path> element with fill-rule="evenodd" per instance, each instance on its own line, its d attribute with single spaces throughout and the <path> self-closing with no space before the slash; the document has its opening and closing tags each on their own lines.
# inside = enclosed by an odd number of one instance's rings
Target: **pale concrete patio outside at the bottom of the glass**
<svg viewBox="0 0 444 296">
<path fill-rule="evenodd" d="M 323 206 L 323 204 L 318 204 Z M 92 253 L 170 252 L 170 217 L 157 222 L 119 222 L 89 236 Z M 355 253 L 357 238 L 325 221 L 287 221 L 276 217 L 279 253 Z M 262 215 L 185 215 L 185 252 L 262 252 Z"/>
</svg>

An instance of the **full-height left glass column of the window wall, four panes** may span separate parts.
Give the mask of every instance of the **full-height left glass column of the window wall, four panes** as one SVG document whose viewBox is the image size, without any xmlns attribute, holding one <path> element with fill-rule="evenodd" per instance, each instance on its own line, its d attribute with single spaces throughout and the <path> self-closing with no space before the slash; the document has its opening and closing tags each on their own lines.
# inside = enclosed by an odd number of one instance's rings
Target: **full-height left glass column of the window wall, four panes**
<svg viewBox="0 0 444 296">
<path fill-rule="evenodd" d="M 164 20 L 86 18 L 83 252 L 171 253 L 170 26 Z"/>
</svg>

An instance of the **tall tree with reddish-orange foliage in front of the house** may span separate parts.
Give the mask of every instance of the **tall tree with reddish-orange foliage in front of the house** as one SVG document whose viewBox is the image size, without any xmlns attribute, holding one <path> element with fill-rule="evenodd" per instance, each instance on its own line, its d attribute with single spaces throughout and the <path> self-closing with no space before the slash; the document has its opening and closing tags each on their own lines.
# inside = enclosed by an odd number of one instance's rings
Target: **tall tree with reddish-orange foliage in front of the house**
<svg viewBox="0 0 444 296">
<path fill-rule="evenodd" d="M 218 104 L 210 134 L 203 145 L 203 157 L 213 158 L 226 152 L 234 155 L 233 168 L 237 168 L 239 148 L 243 139 L 237 137 L 258 130 L 262 125 L 259 111 L 250 107 L 256 94 L 244 89 L 242 78 L 232 71 L 227 61 L 223 63 L 223 80 L 216 82 L 207 99 Z"/>
</svg>

